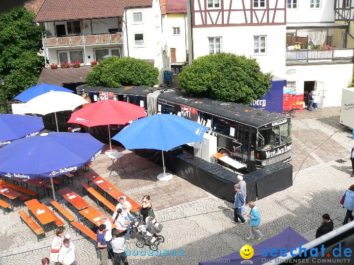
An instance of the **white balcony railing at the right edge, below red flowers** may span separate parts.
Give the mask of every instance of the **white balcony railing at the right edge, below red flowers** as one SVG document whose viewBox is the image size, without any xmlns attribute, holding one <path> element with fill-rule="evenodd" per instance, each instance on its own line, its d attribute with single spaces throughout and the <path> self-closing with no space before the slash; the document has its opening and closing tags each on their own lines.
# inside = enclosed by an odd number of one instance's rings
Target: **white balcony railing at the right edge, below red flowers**
<svg viewBox="0 0 354 265">
<path fill-rule="evenodd" d="M 286 50 L 286 61 L 351 60 L 353 58 L 354 49 Z"/>
</svg>

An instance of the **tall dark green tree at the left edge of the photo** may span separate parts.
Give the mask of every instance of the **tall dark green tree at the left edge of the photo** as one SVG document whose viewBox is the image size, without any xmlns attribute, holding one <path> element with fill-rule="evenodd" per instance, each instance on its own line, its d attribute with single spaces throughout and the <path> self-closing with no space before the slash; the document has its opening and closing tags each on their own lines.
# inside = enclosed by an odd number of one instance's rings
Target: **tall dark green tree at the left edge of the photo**
<svg viewBox="0 0 354 265">
<path fill-rule="evenodd" d="M 24 7 L 0 14 L 0 77 L 7 99 L 35 85 L 44 66 L 44 57 L 38 55 L 42 34 L 33 19 L 34 13 Z"/>
</svg>

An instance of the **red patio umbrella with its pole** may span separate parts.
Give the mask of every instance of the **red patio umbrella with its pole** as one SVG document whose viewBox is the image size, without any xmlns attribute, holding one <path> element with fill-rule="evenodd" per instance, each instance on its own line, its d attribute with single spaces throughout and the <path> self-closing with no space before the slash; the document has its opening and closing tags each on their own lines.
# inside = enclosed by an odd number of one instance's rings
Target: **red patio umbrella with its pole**
<svg viewBox="0 0 354 265">
<path fill-rule="evenodd" d="M 108 125 L 110 149 L 112 151 L 109 126 L 111 124 L 126 124 L 131 120 L 142 117 L 146 117 L 144 107 L 116 100 L 101 100 L 72 113 L 68 123 L 82 124 L 87 127 Z"/>
</svg>

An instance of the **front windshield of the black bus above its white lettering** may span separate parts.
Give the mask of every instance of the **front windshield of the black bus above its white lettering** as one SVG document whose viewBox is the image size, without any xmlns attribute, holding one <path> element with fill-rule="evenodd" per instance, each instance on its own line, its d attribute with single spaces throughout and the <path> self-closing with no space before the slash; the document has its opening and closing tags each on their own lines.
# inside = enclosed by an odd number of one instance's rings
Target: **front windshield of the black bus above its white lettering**
<svg viewBox="0 0 354 265">
<path fill-rule="evenodd" d="M 291 141 L 290 123 L 274 126 L 268 129 L 261 129 L 258 132 L 258 148 L 270 149 L 275 146 Z"/>
</svg>

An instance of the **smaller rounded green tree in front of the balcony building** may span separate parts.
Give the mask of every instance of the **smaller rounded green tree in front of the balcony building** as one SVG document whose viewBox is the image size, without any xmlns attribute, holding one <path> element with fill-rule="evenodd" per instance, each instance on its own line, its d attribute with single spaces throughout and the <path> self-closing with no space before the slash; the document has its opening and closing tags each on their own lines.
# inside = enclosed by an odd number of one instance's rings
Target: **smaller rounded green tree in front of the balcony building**
<svg viewBox="0 0 354 265">
<path fill-rule="evenodd" d="M 100 61 L 87 75 L 86 81 L 90 86 L 152 86 L 158 83 L 158 74 L 158 69 L 145 60 L 112 56 Z"/>
</svg>

